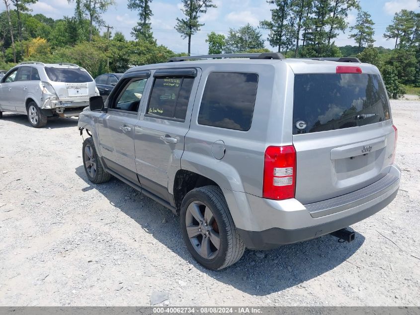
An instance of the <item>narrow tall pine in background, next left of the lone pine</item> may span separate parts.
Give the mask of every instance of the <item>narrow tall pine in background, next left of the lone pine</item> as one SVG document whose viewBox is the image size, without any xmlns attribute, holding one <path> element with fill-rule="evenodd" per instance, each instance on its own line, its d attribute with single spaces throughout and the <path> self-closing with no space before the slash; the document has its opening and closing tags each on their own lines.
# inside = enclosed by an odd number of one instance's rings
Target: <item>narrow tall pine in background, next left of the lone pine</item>
<svg viewBox="0 0 420 315">
<path fill-rule="evenodd" d="M 140 21 L 137 26 L 133 27 L 133 32 L 136 39 L 144 38 L 146 40 L 153 40 L 153 33 L 151 31 L 150 18 L 153 15 L 150 3 L 153 0 L 128 0 L 128 8 L 130 10 L 138 11 Z"/>
</svg>

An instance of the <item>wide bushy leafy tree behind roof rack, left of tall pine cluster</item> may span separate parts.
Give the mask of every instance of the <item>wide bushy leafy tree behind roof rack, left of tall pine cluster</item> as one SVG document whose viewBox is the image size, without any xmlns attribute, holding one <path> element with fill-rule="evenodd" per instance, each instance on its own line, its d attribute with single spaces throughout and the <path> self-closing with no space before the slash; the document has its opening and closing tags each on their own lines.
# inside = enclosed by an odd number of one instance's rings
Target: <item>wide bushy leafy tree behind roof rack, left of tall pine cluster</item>
<svg viewBox="0 0 420 315">
<path fill-rule="evenodd" d="M 256 27 L 252 27 L 248 23 L 238 30 L 229 29 L 229 34 L 226 38 L 226 53 L 246 52 L 247 50 L 258 48 L 264 48 L 264 40 Z"/>
</svg>

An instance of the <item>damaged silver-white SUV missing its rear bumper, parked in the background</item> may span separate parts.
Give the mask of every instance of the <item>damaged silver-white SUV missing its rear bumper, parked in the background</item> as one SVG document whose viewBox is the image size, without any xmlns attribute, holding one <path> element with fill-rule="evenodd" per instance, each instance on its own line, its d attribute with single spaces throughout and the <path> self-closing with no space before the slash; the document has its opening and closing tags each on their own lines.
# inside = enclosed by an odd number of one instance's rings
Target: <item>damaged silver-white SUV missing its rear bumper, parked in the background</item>
<svg viewBox="0 0 420 315">
<path fill-rule="evenodd" d="M 79 116 L 97 95 L 95 81 L 78 65 L 22 62 L 0 80 L 0 118 L 3 111 L 21 113 L 40 128 L 48 117 Z"/>
</svg>

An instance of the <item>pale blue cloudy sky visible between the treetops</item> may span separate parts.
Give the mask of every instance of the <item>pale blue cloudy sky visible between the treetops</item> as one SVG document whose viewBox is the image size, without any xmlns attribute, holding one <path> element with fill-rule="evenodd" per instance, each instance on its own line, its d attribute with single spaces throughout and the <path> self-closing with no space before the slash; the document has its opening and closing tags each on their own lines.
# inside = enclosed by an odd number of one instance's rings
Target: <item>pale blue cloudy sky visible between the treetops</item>
<svg viewBox="0 0 420 315">
<path fill-rule="evenodd" d="M 126 38 L 131 38 L 130 32 L 136 25 L 138 16 L 136 11 L 127 8 L 127 0 L 114 0 L 115 5 L 109 7 L 103 14 L 103 19 L 108 25 L 113 26 L 112 33 L 122 32 Z M 199 21 L 204 23 L 201 30 L 192 36 L 191 53 L 207 54 L 208 44 L 205 42 L 207 34 L 215 31 L 220 34 L 227 34 L 230 28 L 239 28 L 247 23 L 258 26 L 260 20 L 270 19 L 270 9 L 273 5 L 265 0 L 213 0 L 217 8 L 209 8 Z M 374 38 L 375 46 L 393 48 L 393 40 L 385 40 L 382 35 L 385 28 L 391 23 L 395 12 L 401 9 L 420 12 L 417 0 L 360 0 L 362 10 L 369 12 L 375 22 Z M 180 34 L 173 28 L 176 24 L 176 17 L 182 17 L 180 0 L 153 0 L 151 8 L 153 11 L 152 31 L 158 44 L 167 46 L 174 52 L 186 52 L 188 47 L 187 39 L 182 39 Z M 33 13 L 42 13 L 54 19 L 74 14 L 74 4 L 67 0 L 39 0 L 31 5 Z M 357 11 L 348 14 L 347 22 L 353 25 L 356 20 Z M 102 27 L 101 32 L 105 31 Z M 260 30 L 265 39 L 265 47 L 270 47 L 267 38 L 267 31 Z M 337 46 L 355 45 L 354 40 L 348 39 L 349 30 L 340 34 L 336 39 Z"/>
</svg>

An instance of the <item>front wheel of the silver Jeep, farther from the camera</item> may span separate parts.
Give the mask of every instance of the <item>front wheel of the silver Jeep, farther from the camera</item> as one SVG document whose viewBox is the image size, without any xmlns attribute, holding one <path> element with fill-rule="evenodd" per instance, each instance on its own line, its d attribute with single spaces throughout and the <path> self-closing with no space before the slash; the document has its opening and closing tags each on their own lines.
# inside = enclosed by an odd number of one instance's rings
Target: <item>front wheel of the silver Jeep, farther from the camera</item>
<svg viewBox="0 0 420 315">
<path fill-rule="evenodd" d="M 92 137 L 88 137 L 83 142 L 83 166 L 87 178 L 94 184 L 105 183 L 111 179 L 111 174 L 105 172 L 100 158 L 96 153 L 95 144 Z"/>
</svg>

